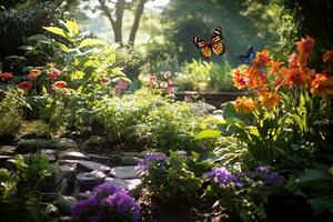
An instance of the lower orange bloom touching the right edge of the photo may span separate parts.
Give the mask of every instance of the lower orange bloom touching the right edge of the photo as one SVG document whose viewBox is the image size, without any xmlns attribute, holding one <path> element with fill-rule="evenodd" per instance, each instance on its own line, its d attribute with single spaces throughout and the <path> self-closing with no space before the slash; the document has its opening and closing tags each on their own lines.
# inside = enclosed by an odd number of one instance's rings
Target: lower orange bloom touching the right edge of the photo
<svg viewBox="0 0 333 222">
<path fill-rule="evenodd" d="M 333 79 L 330 79 L 326 74 L 316 74 L 311 81 L 311 93 L 319 97 L 333 95 Z"/>
</svg>

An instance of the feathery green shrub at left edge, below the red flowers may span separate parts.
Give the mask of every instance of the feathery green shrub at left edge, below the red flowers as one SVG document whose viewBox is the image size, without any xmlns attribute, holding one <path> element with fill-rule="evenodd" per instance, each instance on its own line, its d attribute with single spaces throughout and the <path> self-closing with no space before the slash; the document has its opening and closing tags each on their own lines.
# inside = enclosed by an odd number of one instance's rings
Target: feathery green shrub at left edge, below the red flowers
<svg viewBox="0 0 333 222">
<path fill-rule="evenodd" d="M 3 93 L 3 94 L 1 94 Z M 0 139 L 6 140 L 17 134 L 22 121 L 23 107 L 27 103 L 22 94 L 14 89 L 0 89 Z"/>
</svg>

